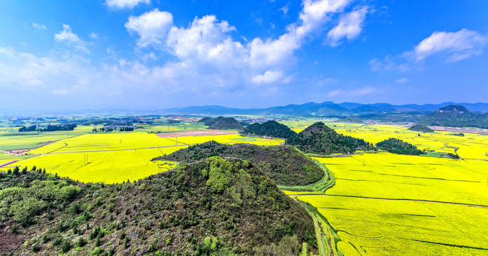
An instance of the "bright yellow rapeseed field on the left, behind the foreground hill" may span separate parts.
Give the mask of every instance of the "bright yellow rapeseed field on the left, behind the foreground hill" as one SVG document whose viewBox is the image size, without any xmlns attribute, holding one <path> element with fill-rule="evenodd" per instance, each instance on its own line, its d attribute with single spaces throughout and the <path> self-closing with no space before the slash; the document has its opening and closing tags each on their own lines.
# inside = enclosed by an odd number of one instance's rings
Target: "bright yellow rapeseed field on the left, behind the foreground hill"
<svg viewBox="0 0 488 256">
<path fill-rule="evenodd" d="M 241 137 L 238 134 L 161 138 L 144 132 L 113 132 L 83 134 L 63 139 L 38 149 L 28 151 L 31 158 L 18 161 L 16 165 L 41 166 L 48 173 L 68 176 L 83 182 L 120 183 L 134 181 L 160 171 L 173 168 L 165 162 L 152 162 L 154 157 L 183 149 L 192 144 L 215 140 L 225 144 L 250 143 L 262 146 L 279 145 L 283 139 Z M 0 157 L 0 164 L 14 159 Z M 26 156 L 23 156 L 26 157 Z M 7 168 L 0 169 L 6 171 Z"/>
</svg>

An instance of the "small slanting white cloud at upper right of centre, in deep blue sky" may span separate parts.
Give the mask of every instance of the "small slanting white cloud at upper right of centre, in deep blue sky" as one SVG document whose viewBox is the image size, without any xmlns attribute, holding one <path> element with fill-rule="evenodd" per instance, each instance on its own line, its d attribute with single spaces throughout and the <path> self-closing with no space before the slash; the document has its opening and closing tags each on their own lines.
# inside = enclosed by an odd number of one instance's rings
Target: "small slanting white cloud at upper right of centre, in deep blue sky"
<svg viewBox="0 0 488 256">
<path fill-rule="evenodd" d="M 366 18 L 368 12 L 367 7 L 363 7 L 359 10 L 351 11 L 341 17 L 339 25 L 332 28 L 327 33 L 327 41 L 331 46 L 337 46 L 342 38 L 352 40 L 361 33 L 361 25 Z"/>
</svg>

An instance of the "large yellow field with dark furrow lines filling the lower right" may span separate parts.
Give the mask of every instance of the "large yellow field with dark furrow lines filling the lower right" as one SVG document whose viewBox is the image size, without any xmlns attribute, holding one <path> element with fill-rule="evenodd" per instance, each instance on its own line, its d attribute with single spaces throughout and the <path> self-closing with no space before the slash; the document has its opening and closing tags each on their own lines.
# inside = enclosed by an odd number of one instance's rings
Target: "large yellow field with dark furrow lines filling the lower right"
<svg viewBox="0 0 488 256">
<path fill-rule="evenodd" d="M 488 255 L 488 161 L 387 153 L 316 159 L 335 186 L 295 197 L 327 219 L 344 255 Z"/>
</svg>

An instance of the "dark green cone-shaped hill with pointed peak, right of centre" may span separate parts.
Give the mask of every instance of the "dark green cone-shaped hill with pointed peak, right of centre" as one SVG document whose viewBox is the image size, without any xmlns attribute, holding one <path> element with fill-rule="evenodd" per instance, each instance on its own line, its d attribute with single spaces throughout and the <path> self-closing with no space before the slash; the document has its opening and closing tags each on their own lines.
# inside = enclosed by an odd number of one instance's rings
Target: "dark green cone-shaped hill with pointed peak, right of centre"
<svg viewBox="0 0 488 256">
<path fill-rule="evenodd" d="M 375 149 L 373 145 L 363 139 L 336 133 L 323 122 L 316 122 L 297 136 L 288 138 L 286 144 L 296 146 L 305 153 L 315 154 L 349 154 L 357 150 Z"/>
</svg>

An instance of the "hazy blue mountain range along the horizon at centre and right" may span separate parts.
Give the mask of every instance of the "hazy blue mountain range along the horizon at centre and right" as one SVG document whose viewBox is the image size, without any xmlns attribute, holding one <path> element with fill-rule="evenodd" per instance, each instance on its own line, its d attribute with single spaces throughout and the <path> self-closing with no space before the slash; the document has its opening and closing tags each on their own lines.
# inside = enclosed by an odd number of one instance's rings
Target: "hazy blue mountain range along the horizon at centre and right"
<svg viewBox="0 0 488 256">
<path fill-rule="evenodd" d="M 361 104 L 354 102 L 308 102 L 302 105 L 286 105 L 280 107 L 268 107 L 265 109 L 238 109 L 230 107 L 222 107 L 218 105 L 211 106 L 194 106 L 194 107 L 182 107 L 182 108 L 169 108 L 161 110 L 168 114 L 287 114 L 287 115 L 300 115 L 310 117 L 328 117 L 339 116 L 344 114 L 381 114 L 381 113 L 407 113 L 407 112 L 419 112 L 428 114 L 435 110 L 446 107 L 448 105 L 463 105 L 469 110 L 478 113 L 488 112 L 488 103 L 455 103 L 444 102 L 440 104 L 425 104 L 425 105 L 391 105 L 388 103 L 375 103 L 375 104 Z"/>
</svg>

